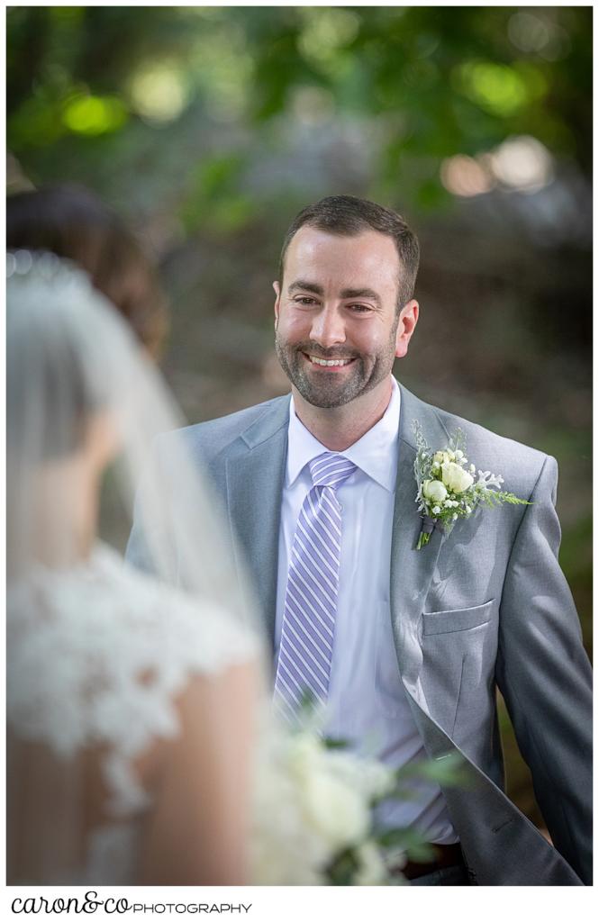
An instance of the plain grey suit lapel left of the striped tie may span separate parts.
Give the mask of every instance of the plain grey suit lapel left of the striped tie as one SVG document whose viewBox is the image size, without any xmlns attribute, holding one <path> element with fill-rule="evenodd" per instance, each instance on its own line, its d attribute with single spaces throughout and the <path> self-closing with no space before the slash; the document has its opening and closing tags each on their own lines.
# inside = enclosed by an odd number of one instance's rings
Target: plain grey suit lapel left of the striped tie
<svg viewBox="0 0 599 922">
<path fill-rule="evenodd" d="M 283 397 L 230 446 L 225 458 L 229 519 L 242 544 L 271 640 L 288 420 L 289 398 Z"/>
</svg>

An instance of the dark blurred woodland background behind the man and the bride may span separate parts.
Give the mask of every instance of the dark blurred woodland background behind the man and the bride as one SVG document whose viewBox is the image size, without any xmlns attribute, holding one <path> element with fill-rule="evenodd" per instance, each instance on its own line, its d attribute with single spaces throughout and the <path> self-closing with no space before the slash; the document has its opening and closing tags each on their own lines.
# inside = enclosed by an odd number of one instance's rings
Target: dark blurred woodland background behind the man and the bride
<svg viewBox="0 0 599 922">
<path fill-rule="evenodd" d="M 84 183 L 138 231 L 190 421 L 287 392 L 270 283 L 301 207 L 408 219 L 421 320 L 396 374 L 557 457 L 589 652 L 592 37 L 582 6 L 7 10 L 8 193 Z M 542 824 L 501 715 L 509 794 Z"/>
</svg>

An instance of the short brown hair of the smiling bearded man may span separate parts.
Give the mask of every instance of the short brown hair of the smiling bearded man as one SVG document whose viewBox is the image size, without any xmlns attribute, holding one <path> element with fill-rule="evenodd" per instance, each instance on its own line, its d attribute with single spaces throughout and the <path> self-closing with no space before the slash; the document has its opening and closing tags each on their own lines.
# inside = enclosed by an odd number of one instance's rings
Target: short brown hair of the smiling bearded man
<svg viewBox="0 0 599 922">
<path fill-rule="evenodd" d="M 319 231 L 339 234 L 341 237 L 354 237 L 364 231 L 387 234 L 395 242 L 403 269 L 399 279 L 398 312 L 410 301 L 416 283 L 420 246 L 416 235 L 396 211 L 375 202 L 368 202 L 364 198 L 355 198 L 353 195 L 329 195 L 327 198 L 321 198 L 315 205 L 308 205 L 300 211 L 285 234 L 279 264 L 281 281 L 289 244 L 297 231 L 305 225 Z"/>
</svg>

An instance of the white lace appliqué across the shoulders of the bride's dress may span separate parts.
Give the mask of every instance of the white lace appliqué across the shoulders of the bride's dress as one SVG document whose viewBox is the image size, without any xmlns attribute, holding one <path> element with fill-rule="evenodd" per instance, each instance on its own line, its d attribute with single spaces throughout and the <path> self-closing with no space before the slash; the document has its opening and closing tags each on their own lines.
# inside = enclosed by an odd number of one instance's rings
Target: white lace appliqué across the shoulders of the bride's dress
<svg viewBox="0 0 599 922">
<path fill-rule="evenodd" d="M 109 855 L 113 869 L 124 866 L 137 823 L 123 821 L 150 806 L 133 763 L 178 733 L 174 701 L 189 677 L 252 659 L 258 644 L 226 612 L 99 545 L 85 565 L 39 568 L 11 588 L 7 652 L 7 716 L 18 738 L 65 759 L 94 746 L 106 752 L 105 810 L 116 822 L 90 835 L 89 880 L 100 882 Z"/>
</svg>

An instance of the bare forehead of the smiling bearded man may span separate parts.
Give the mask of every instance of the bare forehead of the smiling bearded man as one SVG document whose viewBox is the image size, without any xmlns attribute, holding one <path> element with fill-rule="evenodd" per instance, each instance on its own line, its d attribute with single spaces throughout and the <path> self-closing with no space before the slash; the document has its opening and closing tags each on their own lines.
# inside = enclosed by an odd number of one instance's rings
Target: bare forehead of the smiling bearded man
<svg viewBox="0 0 599 922">
<path fill-rule="evenodd" d="M 365 231 L 342 237 L 318 228 L 303 227 L 285 254 L 284 280 L 296 278 L 342 287 L 369 287 L 395 291 L 400 257 L 388 234 Z"/>
</svg>

